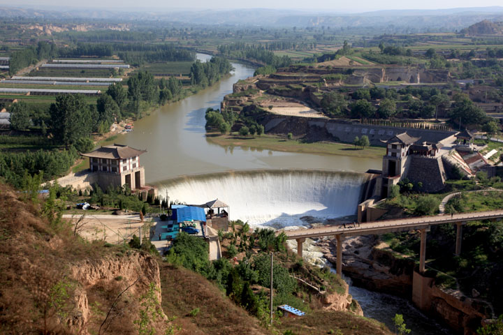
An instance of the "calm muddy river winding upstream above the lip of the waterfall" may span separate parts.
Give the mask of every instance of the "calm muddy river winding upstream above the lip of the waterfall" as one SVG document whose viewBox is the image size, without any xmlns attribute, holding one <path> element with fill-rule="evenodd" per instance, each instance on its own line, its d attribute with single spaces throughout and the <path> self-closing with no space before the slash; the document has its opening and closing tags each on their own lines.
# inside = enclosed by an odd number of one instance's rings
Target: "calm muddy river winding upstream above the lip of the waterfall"
<svg viewBox="0 0 503 335">
<path fill-rule="evenodd" d="M 204 54 L 197 56 L 202 61 L 208 58 Z M 233 73 L 217 84 L 152 111 L 149 117 L 135 122 L 134 131 L 115 140 L 133 148 L 147 149 L 140 157 L 147 183 L 162 184 L 183 174 L 229 170 L 297 168 L 365 172 L 379 169 L 381 162 L 372 158 L 221 147 L 208 142 L 204 128 L 206 109 L 220 108 L 224 96 L 232 93 L 233 84 L 254 73 L 251 66 L 233 63 L 233 67 Z"/>
</svg>

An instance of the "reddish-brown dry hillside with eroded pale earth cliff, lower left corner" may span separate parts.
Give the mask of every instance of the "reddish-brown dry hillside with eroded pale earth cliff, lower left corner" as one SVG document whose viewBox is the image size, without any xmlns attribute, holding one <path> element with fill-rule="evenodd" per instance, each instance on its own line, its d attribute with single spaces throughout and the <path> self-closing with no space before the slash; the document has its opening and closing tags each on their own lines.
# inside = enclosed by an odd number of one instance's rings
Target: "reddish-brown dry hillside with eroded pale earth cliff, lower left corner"
<svg viewBox="0 0 503 335">
<path fill-rule="evenodd" d="M 145 301 L 169 327 L 154 258 L 83 241 L 26 196 L 0 184 L 0 334 L 138 334 Z"/>
</svg>

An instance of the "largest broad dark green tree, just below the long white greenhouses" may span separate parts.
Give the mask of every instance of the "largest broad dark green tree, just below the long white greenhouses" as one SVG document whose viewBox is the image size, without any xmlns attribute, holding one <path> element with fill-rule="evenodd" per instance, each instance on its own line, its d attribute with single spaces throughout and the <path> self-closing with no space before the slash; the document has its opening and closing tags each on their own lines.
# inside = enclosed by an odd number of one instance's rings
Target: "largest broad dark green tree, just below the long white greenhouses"
<svg viewBox="0 0 503 335">
<path fill-rule="evenodd" d="M 81 94 L 60 94 L 56 103 L 50 106 L 50 128 L 57 142 L 70 144 L 80 137 L 89 137 L 92 121 L 89 118 L 89 107 Z"/>
</svg>

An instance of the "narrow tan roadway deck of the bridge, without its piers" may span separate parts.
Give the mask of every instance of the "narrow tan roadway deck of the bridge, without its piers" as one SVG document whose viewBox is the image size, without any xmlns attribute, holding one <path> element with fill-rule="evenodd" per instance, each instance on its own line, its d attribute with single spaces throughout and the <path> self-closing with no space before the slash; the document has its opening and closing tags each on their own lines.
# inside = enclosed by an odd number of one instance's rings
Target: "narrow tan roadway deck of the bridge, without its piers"
<svg viewBox="0 0 503 335">
<path fill-rule="evenodd" d="M 428 228 L 430 225 L 441 225 L 444 223 L 457 223 L 467 221 L 477 221 L 484 219 L 503 218 L 503 210 L 499 211 L 476 211 L 472 213 L 461 213 L 437 216 L 419 216 L 415 218 L 399 218 L 395 220 L 372 221 L 358 225 L 356 223 L 346 225 L 324 226 L 321 228 L 280 230 L 277 234 L 284 232 L 286 239 L 302 239 L 306 237 L 322 237 L 341 234 L 342 236 L 357 236 L 365 234 L 384 234 L 386 232 L 399 232 L 404 230 L 416 230 Z"/>
</svg>

